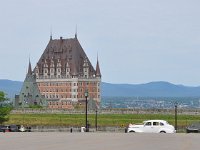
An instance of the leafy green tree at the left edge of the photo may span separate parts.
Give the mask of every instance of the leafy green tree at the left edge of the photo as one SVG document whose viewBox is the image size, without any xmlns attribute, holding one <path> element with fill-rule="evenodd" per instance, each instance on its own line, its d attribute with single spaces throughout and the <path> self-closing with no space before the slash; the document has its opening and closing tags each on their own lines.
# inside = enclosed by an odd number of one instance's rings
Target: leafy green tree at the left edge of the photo
<svg viewBox="0 0 200 150">
<path fill-rule="evenodd" d="M 6 94 L 3 91 L 0 91 L 0 124 L 8 121 L 8 114 L 11 111 L 11 107 L 3 105 L 5 100 L 7 100 Z"/>
</svg>

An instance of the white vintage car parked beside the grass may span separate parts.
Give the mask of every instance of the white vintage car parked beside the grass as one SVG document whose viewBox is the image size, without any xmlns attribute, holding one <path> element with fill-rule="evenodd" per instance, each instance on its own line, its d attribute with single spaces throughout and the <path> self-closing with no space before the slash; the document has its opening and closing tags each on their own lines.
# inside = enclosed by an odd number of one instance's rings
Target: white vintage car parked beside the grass
<svg viewBox="0 0 200 150">
<path fill-rule="evenodd" d="M 165 120 L 147 120 L 142 125 L 129 124 L 127 132 L 136 133 L 175 133 L 174 126 Z"/>
</svg>

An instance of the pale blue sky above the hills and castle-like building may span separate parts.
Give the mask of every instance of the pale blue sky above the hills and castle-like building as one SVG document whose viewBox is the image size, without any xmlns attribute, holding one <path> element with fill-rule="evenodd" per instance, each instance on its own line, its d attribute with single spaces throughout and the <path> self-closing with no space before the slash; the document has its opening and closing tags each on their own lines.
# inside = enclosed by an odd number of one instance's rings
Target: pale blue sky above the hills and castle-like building
<svg viewBox="0 0 200 150">
<path fill-rule="evenodd" d="M 6 0 L 0 79 L 23 81 L 53 38 L 78 39 L 102 81 L 200 85 L 198 0 Z"/>
</svg>

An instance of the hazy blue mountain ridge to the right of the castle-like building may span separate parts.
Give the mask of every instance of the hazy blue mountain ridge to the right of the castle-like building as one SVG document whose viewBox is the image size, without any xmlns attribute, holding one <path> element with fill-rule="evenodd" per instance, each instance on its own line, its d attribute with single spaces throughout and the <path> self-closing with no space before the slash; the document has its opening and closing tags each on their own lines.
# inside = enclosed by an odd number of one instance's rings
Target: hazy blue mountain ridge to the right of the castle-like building
<svg viewBox="0 0 200 150">
<path fill-rule="evenodd" d="M 175 85 L 166 81 L 143 84 L 110 84 L 102 82 L 103 96 L 199 97 L 200 87 Z"/>
</svg>

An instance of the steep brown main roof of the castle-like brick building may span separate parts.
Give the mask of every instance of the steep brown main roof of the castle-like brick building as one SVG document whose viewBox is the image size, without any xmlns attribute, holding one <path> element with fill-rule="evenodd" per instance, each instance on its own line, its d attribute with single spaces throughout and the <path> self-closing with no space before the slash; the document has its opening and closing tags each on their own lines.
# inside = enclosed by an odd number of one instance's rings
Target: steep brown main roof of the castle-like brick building
<svg viewBox="0 0 200 150">
<path fill-rule="evenodd" d="M 87 59 L 89 63 L 89 75 L 93 76 L 96 72 L 81 47 L 77 36 L 70 39 L 63 39 L 62 37 L 60 37 L 60 39 L 50 38 L 50 41 L 40 57 L 37 66 L 41 74 L 45 61 L 48 66 L 50 66 L 51 61 L 53 60 L 56 66 L 57 62 L 60 60 L 62 72 L 65 72 L 65 68 L 68 63 L 71 69 L 70 73 L 72 75 L 81 75 L 83 74 L 83 63 L 85 59 Z"/>
</svg>

